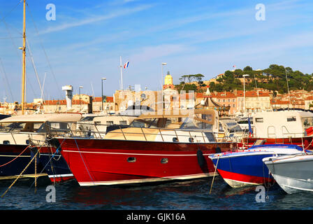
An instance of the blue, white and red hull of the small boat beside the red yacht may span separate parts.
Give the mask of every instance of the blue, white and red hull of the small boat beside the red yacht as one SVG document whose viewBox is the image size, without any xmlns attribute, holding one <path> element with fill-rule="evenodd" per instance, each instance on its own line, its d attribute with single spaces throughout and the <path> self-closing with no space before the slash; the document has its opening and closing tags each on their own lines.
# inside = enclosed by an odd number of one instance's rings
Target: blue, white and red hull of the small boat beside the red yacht
<svg viewBox="0 0 313 224">
<path fill-rule="evenodd" d="M 233 188 L 274 182 L 263 158 L 302 153 L 295 145 L 275 144 L 252 146 L 245 151 L 216 153 L 209 156 L 223 179 Z"/>
</svg>

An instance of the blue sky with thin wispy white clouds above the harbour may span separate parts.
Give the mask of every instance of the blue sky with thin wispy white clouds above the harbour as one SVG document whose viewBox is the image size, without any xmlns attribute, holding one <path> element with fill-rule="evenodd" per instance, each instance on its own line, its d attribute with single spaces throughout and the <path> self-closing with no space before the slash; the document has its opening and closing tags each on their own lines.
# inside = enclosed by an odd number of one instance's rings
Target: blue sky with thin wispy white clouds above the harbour
<svg viewBox="0 0 313 224">
<path fill-rule="evenodd" d="M 21 101 L 22 12 L 20 0 L 0 0 L 0 102 Z M 120 57 L 124 89 L 160 90 L 168 71 L 174 84 L 233 66 L 311 74 L 312 28 L 311 0 L 27 0 L 27 102 L 65 99 L 64 85 L 112 96 Z"/>
</svg>

